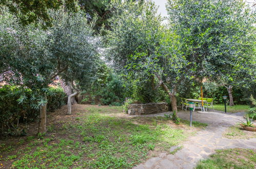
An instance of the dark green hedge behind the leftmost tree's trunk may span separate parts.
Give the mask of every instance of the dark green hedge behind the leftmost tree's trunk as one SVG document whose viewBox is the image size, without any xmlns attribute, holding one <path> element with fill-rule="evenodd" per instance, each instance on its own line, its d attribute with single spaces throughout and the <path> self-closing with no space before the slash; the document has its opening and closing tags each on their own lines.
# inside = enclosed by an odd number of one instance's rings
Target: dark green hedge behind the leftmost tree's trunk
<svg viewBox="0 0 256 169">
<path fill-rule="evenodd" d="M 22 103 L 18 101 L 23 98 Z M 67 96 L 60 88 L 50 88 L 47 92 L 47 111 L 51 112 L 66 103 Z M 10 133 L 11 128 L 19 122 L 31 122 L 37 119 L 39 110 L 36 108 L 30 89 L 16 86 L 0 88 L 0 134 Z"/>
</svg>

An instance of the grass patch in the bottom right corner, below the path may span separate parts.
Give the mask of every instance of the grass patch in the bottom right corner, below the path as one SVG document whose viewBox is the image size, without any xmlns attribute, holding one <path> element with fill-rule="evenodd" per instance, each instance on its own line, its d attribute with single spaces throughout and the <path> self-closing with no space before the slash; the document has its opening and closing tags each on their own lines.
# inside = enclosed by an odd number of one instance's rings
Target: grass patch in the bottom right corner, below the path
<svg viewBox="0 0 256 169">
<path fill-rule="evenodd" d="M 217 150 L 209 159 L 200 161 L 196 169 L 203 168 L 254 168 L 256 151 L 248 149 Z"/>
</svg>

